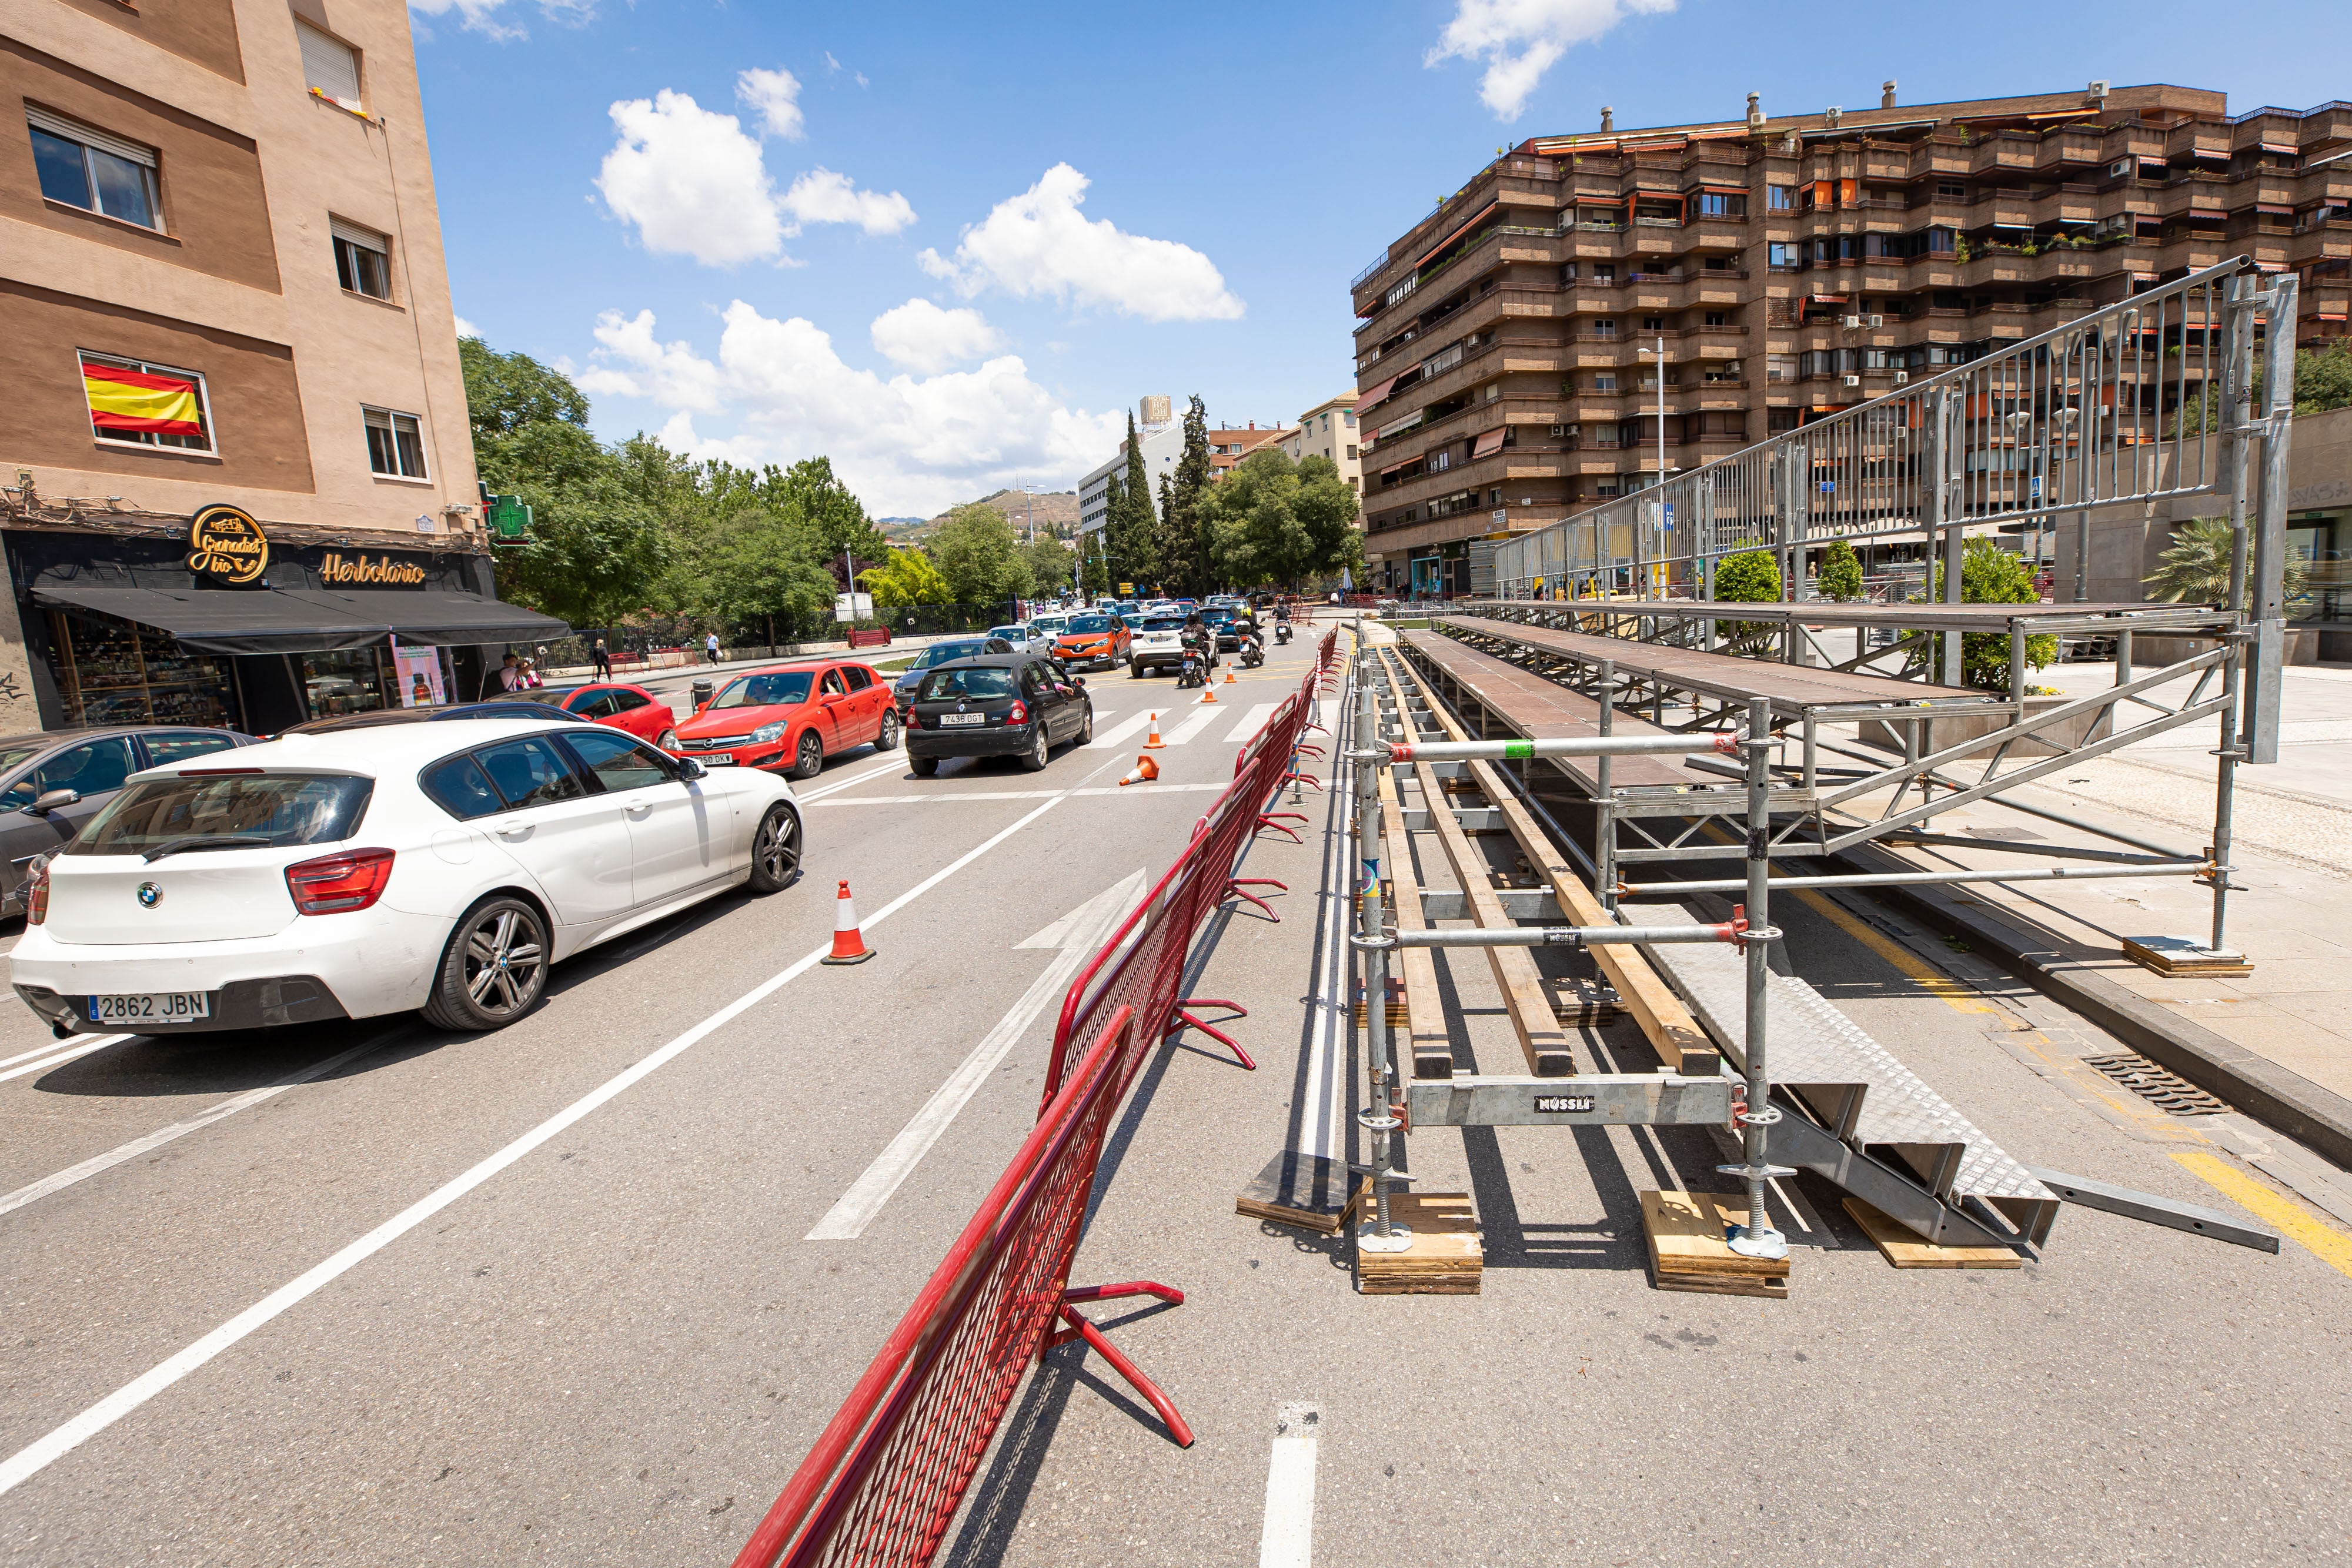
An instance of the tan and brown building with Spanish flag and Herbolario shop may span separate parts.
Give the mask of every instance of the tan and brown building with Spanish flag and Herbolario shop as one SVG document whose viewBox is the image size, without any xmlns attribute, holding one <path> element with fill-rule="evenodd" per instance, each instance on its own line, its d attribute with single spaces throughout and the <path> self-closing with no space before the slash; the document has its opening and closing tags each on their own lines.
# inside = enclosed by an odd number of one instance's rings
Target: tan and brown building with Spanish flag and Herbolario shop
<svg viewBox="0 0 2352 1568">
<path fill-rule="evenodd" d="M 402 0 L 0 33 L 0 729 L 475 696 L 496 602 Z"/>
</svg>

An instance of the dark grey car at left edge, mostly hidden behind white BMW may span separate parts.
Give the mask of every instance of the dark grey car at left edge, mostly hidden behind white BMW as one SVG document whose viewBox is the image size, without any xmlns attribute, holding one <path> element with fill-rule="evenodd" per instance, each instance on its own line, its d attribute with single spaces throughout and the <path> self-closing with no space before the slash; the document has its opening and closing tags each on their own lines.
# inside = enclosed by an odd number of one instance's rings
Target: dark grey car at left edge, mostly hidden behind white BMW
<svg viewBox="0 0 2352 1568">
<path fill-rule="evenodd" d="M 254 745 L 233 729 L 120 724 L 0 736 L 0 914 L 24 914 L 33 860 L 66 844 L 141 769 Z"/>
</svg>

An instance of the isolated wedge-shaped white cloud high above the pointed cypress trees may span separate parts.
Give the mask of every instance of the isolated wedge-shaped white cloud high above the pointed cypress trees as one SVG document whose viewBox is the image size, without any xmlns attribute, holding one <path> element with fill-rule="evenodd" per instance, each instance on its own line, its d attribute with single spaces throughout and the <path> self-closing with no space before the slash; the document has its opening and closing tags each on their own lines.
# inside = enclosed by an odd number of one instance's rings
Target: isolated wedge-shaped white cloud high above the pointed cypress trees
<svg viewBox="0 0 2352 1568">
<path fill-rule="evenodd" d="M 1018 299 L 1047 294 L 1148 322 L 1230 322 L 1242 315 L 1242 301 L 1225 289 L 1216 263 L 1190 244 L 1129 235 L 1110 219 L 1087 221 L 1080 214 L 1087 183 L 1084 174 L 1058 162 L 967 228 L 953 259 L 927 249 L 917 261 L 964 299 L 997 287 Z"/>
</svg>

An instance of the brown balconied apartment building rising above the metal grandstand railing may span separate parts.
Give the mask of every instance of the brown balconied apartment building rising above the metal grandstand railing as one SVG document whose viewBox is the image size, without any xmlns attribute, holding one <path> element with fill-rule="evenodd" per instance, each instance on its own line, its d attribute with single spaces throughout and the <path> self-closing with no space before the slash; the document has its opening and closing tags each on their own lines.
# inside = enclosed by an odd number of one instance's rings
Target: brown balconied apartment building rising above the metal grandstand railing
<svg viewBox="0 0 2352 1568">
<path fill-rule="evenodd" d="M 1538 136 L 1352 284 L 1367 578 L 1557 522 L 2234 254 L 2345 331 L 2352 103 L 2093 82 Z"/>
</svg>

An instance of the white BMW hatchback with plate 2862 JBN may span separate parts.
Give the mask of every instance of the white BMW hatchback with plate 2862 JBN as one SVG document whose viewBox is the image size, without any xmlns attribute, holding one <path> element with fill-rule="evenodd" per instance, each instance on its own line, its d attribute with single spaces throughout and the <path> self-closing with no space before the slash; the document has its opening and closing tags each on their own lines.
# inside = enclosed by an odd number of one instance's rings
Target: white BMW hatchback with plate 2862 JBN
<svg viewBox="0 0 2352 1568">
<path fill-rule="evenodd" d="M 496 1030 L 548 964 L 731 886 L 774 893 L 800 853 L 781 776 L 616 729 L 294 733 L 134 773 L 26 884 L 9 978 L 59 1034 L 409 1009 Z"/>
</svg>

